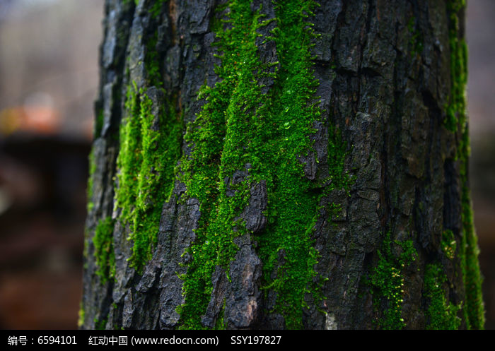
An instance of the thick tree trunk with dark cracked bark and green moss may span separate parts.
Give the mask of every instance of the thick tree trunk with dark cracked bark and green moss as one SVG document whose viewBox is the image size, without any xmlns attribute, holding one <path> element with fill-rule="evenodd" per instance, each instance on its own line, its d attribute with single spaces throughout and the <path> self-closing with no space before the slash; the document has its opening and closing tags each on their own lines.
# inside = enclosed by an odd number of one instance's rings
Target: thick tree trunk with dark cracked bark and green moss
<svg viewBox="0 0 495 351">
<path fill-rule="evenodd" d="M 81 328 L 482 328 L 462 2 L 106 0 Z"/>
</svg>

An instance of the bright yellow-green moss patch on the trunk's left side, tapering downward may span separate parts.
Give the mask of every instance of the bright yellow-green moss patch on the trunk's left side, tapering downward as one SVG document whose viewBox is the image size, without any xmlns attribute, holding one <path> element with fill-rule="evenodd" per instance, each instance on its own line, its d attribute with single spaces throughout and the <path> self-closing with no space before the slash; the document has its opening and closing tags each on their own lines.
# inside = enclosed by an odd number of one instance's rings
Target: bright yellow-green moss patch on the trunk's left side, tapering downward
<svg viewBox="0 0 495 351">
<path fill-rule="evenodd" d="M 120 220 L 130 227 L 129 239 L 134 244 L 129 261 L 138 270 L 151 259 L 161 208 L 170 198 L 180 157 L 182 120 L 166 99 L 157 109 L 155 115 L 153 102 L 143 89 L 128 87 L 115 206 L 121 209 Z"/>
</svg>

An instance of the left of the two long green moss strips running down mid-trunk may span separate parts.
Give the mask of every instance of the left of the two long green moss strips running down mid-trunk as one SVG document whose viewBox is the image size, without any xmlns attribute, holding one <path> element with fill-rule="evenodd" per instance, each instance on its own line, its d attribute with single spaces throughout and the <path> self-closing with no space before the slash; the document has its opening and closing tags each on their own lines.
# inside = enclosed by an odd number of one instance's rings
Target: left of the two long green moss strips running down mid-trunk
<svg viewBox="0 0 495 351">
<path fill-rule="evenodd" d="M 248 205 L 248 182 L 252 180 L 225 184 L 223 179 L 231 177 L 234 169 L 245 169 L 248 163 L 246 148 L 252 133 L 246 122 L 251 117 L 246 112 L 239 113 L 239 109 L 244 104 L 252 108 L 253 93 L 259 90 L 252 71 L 258 66 L 255 30 L 260 26 L 260 15 L 253 14 L 250 4 L 243 1 L 231 4 L 230 16 L 228 22 L 233 28 L 223 32 L 219 28 L 223 23 L 216 23 L 217 45 L 223 51 L 222 65 L 216 73 L 222 81 L 200 91 L 200 97 L 206 96 L 208 102 L 187 127 L 185 138 L 194 150 L 191 157 L 181 161 L 187 194 L 199 200 L 202 213 L 196 241 L 190 248 L 192 263 L 184 277 L 182 328 L 203 328 L 200 316 L 210 299 L 211 275 L 216 265 L 228 271 L 228 263 L 238 249 L 233 237 L 245 231 L 245 225 L 235 223 L 234 218 Z M 235 191 L 234 196 L 227 196 L 226 186 Z"/>
</svg>

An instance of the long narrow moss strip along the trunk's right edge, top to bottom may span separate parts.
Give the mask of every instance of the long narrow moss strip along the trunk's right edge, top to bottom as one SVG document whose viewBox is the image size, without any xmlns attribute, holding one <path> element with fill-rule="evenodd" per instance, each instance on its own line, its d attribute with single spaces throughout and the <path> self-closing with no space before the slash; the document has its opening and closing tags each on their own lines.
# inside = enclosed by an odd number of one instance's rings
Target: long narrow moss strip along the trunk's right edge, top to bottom
<svg viewBox="0 0 495 351">
<path fill-rule="evenodd" d="M 447 3 L 450 42 L 450 103 L 446 107 L 445 126 L 456 133 L 457 158 L 460 163 L 462 201 L 462 242 L 460 261 L 465 285 L 464 318 L 467 328 L 484 328 L 484 304 L 482 276 L 479 270 L 477 236 L 474 231 L 472 204 L 469 188 L 470 138 L 467 122 L 465 87 L 467 83 L 467 45 L 459 38 L 459 13 L 465 10 L 465 0 Z"/>
</svg>

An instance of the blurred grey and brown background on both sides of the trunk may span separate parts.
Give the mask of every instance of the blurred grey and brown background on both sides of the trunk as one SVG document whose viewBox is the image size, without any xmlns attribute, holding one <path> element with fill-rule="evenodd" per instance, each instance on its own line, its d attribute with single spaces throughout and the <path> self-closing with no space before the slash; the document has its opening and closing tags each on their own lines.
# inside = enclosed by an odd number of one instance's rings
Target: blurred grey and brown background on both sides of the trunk
<svg viewBox="0 0 495 351">
<path fill-rule="evenodd" d="M 495 329 L 495 1 L 467 1 L 474 216 Z M 0 328 L 77 328 L 103 0 L 0 0 Z"/>
</svg>

